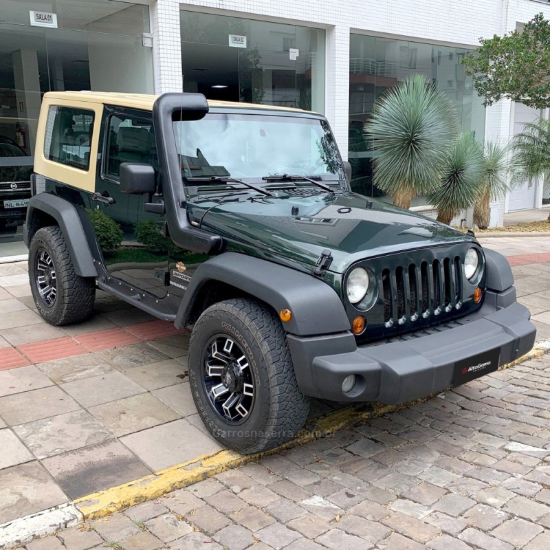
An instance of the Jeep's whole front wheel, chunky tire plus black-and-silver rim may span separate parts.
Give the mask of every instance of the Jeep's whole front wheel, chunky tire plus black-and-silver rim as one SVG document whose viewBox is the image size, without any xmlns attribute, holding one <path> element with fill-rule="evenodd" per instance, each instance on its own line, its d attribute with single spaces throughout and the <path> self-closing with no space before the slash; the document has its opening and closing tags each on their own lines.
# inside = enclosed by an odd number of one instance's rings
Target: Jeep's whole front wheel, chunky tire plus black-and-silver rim
<svg viewBox="0 0 550 550">
<path fill-rule="evenodd" d="M 241 453 L 262 452 L 298 435 L 309 411 L 285 331 L 253 298 L 208 307 L 189 344 L 191 395 L 206 428 Z"/>
</svg>

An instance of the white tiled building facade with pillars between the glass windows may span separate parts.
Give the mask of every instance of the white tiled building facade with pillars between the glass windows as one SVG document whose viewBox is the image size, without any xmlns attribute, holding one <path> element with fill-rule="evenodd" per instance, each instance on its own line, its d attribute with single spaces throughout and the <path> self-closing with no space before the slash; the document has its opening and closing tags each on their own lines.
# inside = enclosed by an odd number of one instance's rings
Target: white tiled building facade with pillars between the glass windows
<svg viewBox="0 0 550 550">
<path fill-rule="evenodd" d="M 351 33 L 474 49 L 480 37 L 513 30 L 538 12 L 550 18 L 550 3 L 538 0 L 156 0 L 151 6 L 157 93 L 181 91 L 180 9 L 325 29 L 325 114 L 344 156 Z M 487 109 L 485 137 L 508 140 L 510 128 L 511 102 L 503 100 Z M 499 225 L 504 206 L 503 197 L 498 203 Z"/>
</svg>

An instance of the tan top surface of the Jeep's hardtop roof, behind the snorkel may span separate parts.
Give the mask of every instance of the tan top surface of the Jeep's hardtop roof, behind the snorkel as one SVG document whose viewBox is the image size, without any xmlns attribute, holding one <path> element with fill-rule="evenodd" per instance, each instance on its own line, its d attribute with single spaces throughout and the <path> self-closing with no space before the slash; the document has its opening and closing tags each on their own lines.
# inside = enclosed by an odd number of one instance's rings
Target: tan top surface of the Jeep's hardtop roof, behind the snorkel
<svg viewBox="0 0 550 550">
<path fill-rule="evenodd" d="M 134 109 L 153 110 L 153 103 L 158 96 L 154 94 L 124 94 L 113 91 L 48 91 L 45 96 L 47 99 L 58 99 L 63 102 L 86 101 L 92 103 L 102 103 L 106 105 L 120 105 L 120 107 L 132 107 Z M 210 107 L 233 107 L 238 109 L 265 109 L 277 111 L 295 111 L 303 113 L 302 109 L 293 109 L 292 107 L 276 107 L 274 105 L 261 105 L 256 103 L 238 103 L 232 101 L 214 101 L 208 100 Z"/>
</svg>

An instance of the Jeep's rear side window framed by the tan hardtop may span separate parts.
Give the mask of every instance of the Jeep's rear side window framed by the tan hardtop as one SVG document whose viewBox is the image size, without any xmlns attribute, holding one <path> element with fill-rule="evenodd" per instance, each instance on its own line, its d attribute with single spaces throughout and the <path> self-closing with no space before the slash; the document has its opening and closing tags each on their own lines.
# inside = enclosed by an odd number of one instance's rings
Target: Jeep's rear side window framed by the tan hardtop
<svg viewBox="0 0 550 550">
<path fill-rule="evenodd" d="M 44 156 L 48 160 L 88 170 L 94 111 L 52 106 L 47 113 Z"/>
</svg>

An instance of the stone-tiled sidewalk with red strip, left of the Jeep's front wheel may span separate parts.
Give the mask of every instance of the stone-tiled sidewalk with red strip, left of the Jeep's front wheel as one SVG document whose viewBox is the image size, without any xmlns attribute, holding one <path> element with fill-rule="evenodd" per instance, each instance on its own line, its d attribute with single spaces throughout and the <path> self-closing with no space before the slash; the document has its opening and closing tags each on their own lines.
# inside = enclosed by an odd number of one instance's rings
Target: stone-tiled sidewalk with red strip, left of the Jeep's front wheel
<svg viewBox="0 0 550 550">
<path fill-rule="evenodd" d="M 219 450 L 186 331 L 100 291 L 91 320 L 53 327 L 25 269 L 0 265 L 0 525 Z"/>
</svg>

